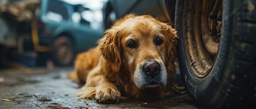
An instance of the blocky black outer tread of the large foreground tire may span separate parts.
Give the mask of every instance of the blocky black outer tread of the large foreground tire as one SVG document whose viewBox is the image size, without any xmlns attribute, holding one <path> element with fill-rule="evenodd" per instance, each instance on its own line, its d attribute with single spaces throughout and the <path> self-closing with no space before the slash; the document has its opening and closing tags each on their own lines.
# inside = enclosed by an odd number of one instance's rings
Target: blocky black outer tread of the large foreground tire
<svg viewBox="0 0 256 109">
<path fill-rule="evenodd" d="M 243 2 L 243 3 L 240 3 Z M 237 0 L 234 7 L 237 9 L 235 27 L 233 30 L 234 42 L 234 69 L 230 73 L 223 87 L 226 102 L 220 102 L 224 107 L 230 107 L 227 102 L 240 106 L 252 106 L 256 98 L 256 10 L 250 12 L 248 4 L 256 5 L 256 0 Z M 241 103 L 241 104 L 240 104 Z"/>
</svg>

